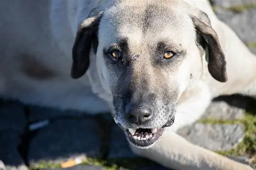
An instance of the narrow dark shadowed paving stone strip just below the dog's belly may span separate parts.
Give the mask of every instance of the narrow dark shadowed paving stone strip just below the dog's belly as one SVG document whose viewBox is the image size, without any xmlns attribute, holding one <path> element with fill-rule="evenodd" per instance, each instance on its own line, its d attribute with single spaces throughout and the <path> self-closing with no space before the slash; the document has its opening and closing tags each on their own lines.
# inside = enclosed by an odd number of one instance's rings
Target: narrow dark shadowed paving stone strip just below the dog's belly
<svg viewBox="0 0 256 170">
<path fill-rule="evenodd" d="M 58 110 L 54 108 L 39 107 L 39 106 L 28 106 L 29 110 L 29 121 L 37 122 L 44 119 L 57 119 L 60 117 L 81 117 L 86 115 L 86 112 L 75 111 L 75 110 Z"/>
</svg>

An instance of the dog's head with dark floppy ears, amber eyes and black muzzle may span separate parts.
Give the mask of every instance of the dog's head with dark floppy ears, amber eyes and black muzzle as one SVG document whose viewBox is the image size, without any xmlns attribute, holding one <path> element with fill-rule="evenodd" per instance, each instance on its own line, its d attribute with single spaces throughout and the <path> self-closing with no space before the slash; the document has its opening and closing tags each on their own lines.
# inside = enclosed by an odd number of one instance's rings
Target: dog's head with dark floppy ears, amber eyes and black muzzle
<svg viewBox="0 0 256 170">
<path fill-rule="evenodd" d="M 73 47 L 73 78 L 86 72 L 94 48 L 100 81 L 113 96 L 115 122 L 137 147 L 149 147 L 174 123 L 179 97 L 202 75 L 205 48 L 210 74 L 226 81 L 225 58 L 207 16 L 179 7 L 115 5 L 84 21 Z"/>
</svg>

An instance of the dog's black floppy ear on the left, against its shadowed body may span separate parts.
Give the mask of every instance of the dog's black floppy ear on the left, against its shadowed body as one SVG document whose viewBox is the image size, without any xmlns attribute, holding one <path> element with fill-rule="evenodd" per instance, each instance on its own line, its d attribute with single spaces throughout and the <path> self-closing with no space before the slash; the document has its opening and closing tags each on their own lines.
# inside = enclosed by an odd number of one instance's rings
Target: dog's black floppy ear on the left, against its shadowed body
<svg viewBox="0 0 256 170">
<path fill-rule="evenodd" d="M 95 53 L 98 46 L 98 26 L 102 12 L 84 20 L 78 28 L 75 42 L 72 48 L 71 77 L 82 77 L 90 64 L 90 51 L 93 45 Z"/>
</svg>

